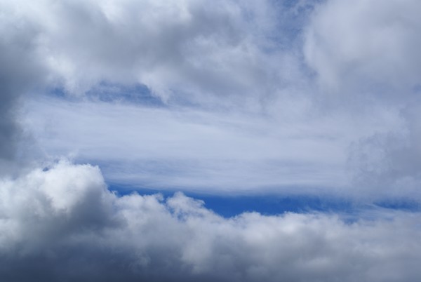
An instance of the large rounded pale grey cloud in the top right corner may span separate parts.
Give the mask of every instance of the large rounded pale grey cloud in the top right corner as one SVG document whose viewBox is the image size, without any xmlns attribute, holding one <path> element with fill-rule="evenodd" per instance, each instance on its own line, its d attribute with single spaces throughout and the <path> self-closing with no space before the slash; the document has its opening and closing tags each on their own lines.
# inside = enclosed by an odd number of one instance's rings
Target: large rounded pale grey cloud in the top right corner
<svg viewBox="0 0 421 282">
<path fill-rule="evenodd" d="M 420 84 L 420 8 L 418 1 L 326 1 L 307 27 L 305 58 L 328 88 L 399 102 Z"/>
</svg>

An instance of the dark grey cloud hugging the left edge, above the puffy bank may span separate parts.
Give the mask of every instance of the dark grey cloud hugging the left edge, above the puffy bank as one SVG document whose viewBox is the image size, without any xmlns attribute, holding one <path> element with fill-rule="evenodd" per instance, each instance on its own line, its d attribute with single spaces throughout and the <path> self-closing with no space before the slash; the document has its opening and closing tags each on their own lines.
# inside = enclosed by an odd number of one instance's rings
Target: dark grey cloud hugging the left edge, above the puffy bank
<svg viewBox="0 0 421 282">
<path fill-rule="evenodd" d="M 18 121 L 21 95 L 40 86 L 46 70 L 34 48 L 37 26 L 25 20 L 11 25 L 3 13 L 0 25 L 0 168 L 1 173 L 6 173 L 12 170 L 21 149 L 18 144 L 24 139 Z"/>
</svg>

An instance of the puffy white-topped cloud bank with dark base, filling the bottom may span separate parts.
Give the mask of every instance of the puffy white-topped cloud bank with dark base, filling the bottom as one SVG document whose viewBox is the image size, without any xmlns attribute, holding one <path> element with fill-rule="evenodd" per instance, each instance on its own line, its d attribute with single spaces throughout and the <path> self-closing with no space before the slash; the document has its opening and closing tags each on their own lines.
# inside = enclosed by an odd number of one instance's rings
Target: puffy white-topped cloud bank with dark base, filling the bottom
<svg viewBox="0 0 421 282">
<path fill-rule="evenodd" d="M 66 161 L 0 186 L 7 281 L 414 281 L 417 213 L 224 218 L 183 194 L 116 196 Z"/>
</svg>

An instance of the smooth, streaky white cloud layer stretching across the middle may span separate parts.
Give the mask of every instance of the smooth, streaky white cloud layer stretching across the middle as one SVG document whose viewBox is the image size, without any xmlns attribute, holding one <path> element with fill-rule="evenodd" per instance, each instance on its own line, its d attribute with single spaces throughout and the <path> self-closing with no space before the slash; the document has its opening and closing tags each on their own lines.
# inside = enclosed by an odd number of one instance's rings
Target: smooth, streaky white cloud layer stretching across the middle
<svg viewBox="0 0 421 282">
<path fill-rule="evenodd" d="M 298 101 L 300 103 L 302 101 Z M 105 102 L 27 102 L 25 128 L 50 156 L 98 163 L 107 180 L 159 189 L 354 194 L 351 142 L 399 128 L 398 112 L 274 119 Z M 299 187 L 299 188 L 298 188 Z M 345 189 L 345 191 L 344 191 Z"/>
</svg>

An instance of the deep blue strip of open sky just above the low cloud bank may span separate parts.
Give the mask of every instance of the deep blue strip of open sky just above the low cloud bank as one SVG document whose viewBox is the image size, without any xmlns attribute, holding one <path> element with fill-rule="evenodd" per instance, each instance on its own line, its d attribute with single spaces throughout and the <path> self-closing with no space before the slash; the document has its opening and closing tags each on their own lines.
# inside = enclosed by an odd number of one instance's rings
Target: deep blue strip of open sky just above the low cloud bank
<svg viewBox="0 0 421 282">
<path fill-rule="evenodd" d="M 164 197 L 173 196 L 171 190 L 139 188 L 128 189 L 119 185 L 111 185 L 110 190 L 123 196 L 138 192 L 142 195 L 162 194 Z M 222 217 L 234 217 L 241 213 L 256 212 L 262 215 L 281 215 L 283 213 L 331 213 L 342 215 L 346 222 L 354 222 L 360 217 L 375 210 L 421 212 L 421 204 L 408 199 L 390 199 L 374 203 L 361 203 L 352 199 L 335 196 L 310 195 L 209 195 L 194 192 L 183 192 L 186 196 L 201 200 L 204 206 Z M 363 216 L 364 215 L 364 216 Z"/>
</svg>

